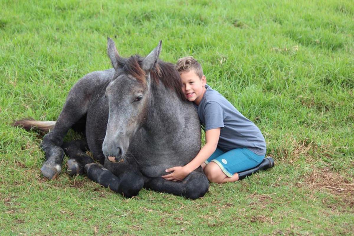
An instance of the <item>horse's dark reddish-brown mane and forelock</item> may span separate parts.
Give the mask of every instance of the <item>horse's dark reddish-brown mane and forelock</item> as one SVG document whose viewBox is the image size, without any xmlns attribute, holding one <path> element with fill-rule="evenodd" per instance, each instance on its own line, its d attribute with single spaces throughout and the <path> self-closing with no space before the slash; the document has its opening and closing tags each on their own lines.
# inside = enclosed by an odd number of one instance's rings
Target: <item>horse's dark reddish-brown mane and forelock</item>
<svg viewBox="0 0 354 236">
<path fill-rule="evenodd" d="M 143 57 L 134 55 L 126 59 L 121 59 L 118 63 L 125 74 L 132 75 L 138 81 L 146 83 L 146 74 L 141 68 L 143 59 Z M 179 76 L 175 65 L 172 63 L 158 60 L 150 72 L 150 77 L 154 85 L 158 85 L 162 82 L 166 88 L 174 90 L 181 100 L 186 100 L 182 91 L 181 76 Z"/>
</svg>

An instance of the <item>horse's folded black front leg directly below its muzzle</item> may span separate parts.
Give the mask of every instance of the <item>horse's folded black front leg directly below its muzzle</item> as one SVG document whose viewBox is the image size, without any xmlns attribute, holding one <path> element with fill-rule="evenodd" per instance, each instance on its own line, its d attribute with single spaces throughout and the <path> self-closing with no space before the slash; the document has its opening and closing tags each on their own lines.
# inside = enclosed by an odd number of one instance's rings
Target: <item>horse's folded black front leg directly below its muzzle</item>
<svg viewBox="0 0 354 236">
<path fill-rule="evenodd" d="M 139 175 L 139 173 L 125 171 L 117 177 L 98 163 L 85 165 L 85 172 L 89 179 L 103 185 L 105 188 L 118 192 L 125 197 L 138 195 L 144 185 L 141 173 Z"/>
</svg>

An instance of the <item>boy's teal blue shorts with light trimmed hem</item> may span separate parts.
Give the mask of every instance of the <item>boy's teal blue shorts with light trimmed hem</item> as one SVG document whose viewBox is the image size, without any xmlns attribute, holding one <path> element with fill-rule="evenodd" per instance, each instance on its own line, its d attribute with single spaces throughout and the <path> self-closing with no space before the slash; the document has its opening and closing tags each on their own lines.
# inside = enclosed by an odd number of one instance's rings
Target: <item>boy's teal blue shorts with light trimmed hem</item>
<svg viewBox="0 0 354 236">
<path fill-rule="evenodd" d="M 233 174 L 258 166 L 265 155 L 259 156 L 247 148 L 236 148 L 227 152 L 216 149 L 205 161 L 205 164 L 213 161 L 228 177 Z"/>
</svg>

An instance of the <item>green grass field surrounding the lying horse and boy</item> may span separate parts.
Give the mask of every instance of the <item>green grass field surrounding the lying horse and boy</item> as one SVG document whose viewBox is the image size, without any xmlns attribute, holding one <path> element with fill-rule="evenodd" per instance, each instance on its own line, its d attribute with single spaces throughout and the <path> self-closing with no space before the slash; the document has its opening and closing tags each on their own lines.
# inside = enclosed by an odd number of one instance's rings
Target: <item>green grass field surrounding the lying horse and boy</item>
<svg viewBox="0 0 354 236">
<path fill-rule="evenodd" d="M 352 1 L 0 5 L 0 235 L 353 234 Z M 276 166 L 210 184 L 195 201 L 147 190 L 125 199 L 65 167 L 44 179 L 41 137 L 11 121 L 56 120 L 80 77 L 111 67 L 107 36 L 122 56 L 161 39 L 161 59 L 198 59 L 261 129 Z"/>
</svg>

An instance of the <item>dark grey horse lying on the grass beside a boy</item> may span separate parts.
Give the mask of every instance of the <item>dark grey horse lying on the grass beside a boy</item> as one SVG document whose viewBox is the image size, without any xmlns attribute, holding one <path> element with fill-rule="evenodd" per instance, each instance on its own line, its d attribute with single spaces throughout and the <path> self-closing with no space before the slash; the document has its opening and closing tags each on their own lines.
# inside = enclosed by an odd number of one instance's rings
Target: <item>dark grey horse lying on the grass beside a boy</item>
<svg viewBox="0 0 354 236">
<path fill-rule="evenodd" d="M 41 143 L 43 175 L 55 179 L 65 153 L 69 174 L 87 174 L 125 197 L 143 187 L 191 199 L 204 196 L 209 183 L 201 167 L 179 182 L 161 178 L 165 169 L 186 165 L 200 149 L 198 115 L 184 98 L 174 65 L 158 59 L 161 41 L 146 57 L 120 57 L 109 38 L 107 51 L 113 68 L 82 77 L 57 121 L 15 123 L 51 129 Z M 86 140 L 63 143 L 70 128 L 84 131 Z"/>
</svg>

